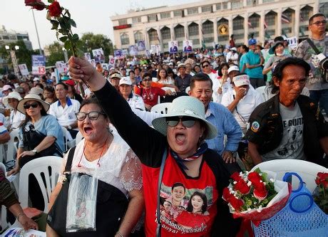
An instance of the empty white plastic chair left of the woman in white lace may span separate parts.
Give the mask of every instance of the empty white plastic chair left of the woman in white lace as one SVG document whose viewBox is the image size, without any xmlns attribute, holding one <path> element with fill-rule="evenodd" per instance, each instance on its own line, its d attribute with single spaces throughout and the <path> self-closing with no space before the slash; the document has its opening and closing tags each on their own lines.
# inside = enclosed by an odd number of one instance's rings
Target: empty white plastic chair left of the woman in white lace
<svg viewBox="0 0 328 237">
<path fill-rule="evenodd" d="M 41 157 L 31 160 L 21 168 L 19 177 L 19 202 L 21 207 L 26 208 L 29 202 L 29 174 L 34 174 L 38 180 L 39 186 L 42 191 L 44 210 L 48 213 L 48 204 L 51 192 L 55 188 L 58 180 L 59 173 L 61 172 L 63 158 L 56 156 Z M 51 175 L 49 174 L 48 167 L 51 167 Z M 44 174 L 46 184 L 43 183 L 41 174 Z"/>
</svg>

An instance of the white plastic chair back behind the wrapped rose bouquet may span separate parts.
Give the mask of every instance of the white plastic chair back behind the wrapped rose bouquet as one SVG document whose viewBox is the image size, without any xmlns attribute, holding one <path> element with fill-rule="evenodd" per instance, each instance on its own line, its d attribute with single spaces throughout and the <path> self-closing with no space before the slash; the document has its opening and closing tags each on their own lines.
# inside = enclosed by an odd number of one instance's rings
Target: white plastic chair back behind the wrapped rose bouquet
<svg viewBox="0 0 328 237">
<path fill-rule="evenodd" d="M 328 169 L 314 164 L 312 162 L 306 162 L 300 159 L 275 159 L 269 162 L 262 162 L 253 167 L 252 171 L 260 168 L 261 170 L 269 170 L 277 173 L 278 180 L 282 180 L 286 172 L 295 172 L 299 174 L 309 191 L 314 191 L 317 184 L 315 184 L 315 178 L 318 172 L 328 172 Z M 294 178 L 294 177 L 293 177 Z M 292 179 L 293 189 L 297 188 L 299 184 L 298 179 Z"/>
</svg>

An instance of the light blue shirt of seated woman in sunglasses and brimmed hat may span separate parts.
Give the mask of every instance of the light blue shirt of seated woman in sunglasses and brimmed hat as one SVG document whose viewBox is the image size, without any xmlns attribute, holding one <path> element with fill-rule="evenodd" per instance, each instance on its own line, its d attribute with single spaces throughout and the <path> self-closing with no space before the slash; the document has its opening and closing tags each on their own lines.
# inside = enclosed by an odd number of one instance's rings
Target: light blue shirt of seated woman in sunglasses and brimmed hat
<svg viewBox="0 0 328 237">
<path fill-rule="evenodd" d="M 31 121 L 29 121 L 27 122 L 26 126 L 29 127 L 31 124 Z M 34 128 L 36 131 L 43 133 L 43 135 L 55 137 L 57 147 L 63 152 L 63 131 L 61 130 L 61 125 L 58 124 L 56 118 L 53 117 L 53 115 L 41 116 L 41 118 L 34 123 Z M 19 130 L 19 147 L 24 147 L 23 129 L 24 127 L 21 127 Z"/>
</svg>

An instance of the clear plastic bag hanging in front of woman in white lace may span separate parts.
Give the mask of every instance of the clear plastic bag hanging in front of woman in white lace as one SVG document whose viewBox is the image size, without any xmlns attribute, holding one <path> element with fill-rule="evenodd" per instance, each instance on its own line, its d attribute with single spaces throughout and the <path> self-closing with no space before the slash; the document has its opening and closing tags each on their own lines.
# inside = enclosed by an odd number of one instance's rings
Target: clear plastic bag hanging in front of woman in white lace
<svg viewBox="0 0 328 237">
<path fill-rule="evenodd" d="M 83 173 L 71 174 L 68 189 L 66 231 L 96 231 L 98 179 Z"/>
</svg>

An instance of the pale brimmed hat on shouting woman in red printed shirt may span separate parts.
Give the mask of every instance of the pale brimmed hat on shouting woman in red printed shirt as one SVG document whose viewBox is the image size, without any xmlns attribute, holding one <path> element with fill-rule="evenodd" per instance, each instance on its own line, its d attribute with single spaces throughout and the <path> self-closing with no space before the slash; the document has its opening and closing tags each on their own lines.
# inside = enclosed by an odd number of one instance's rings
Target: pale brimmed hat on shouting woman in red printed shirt
<svg viewBox="0 0 328 237">
<path fill-rule="evenodd" d="M 191 96 L 180 96 L 173 100 L 168 105 L 168 113 L 163 117 L 158 117 L 153 120 L 155 130 L 166 136 L 168 132 L 167 117 L 188 116 L 195 117 L 198 120 L 205 122 L 207 127 L 207 136 L 205 139 L 212 139 L 217 136 L 217 129 L 210 122 L 205 120 L 205 107 L 200 100 Z"/>
</svg>

